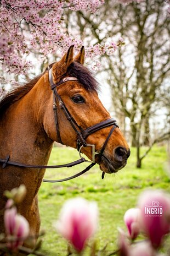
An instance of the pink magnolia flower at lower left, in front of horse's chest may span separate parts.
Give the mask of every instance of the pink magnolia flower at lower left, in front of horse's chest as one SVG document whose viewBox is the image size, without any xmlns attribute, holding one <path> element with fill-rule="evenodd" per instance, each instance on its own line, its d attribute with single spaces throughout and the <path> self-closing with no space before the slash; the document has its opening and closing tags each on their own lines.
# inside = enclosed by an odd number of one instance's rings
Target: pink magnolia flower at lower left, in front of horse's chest
<svg viewBox="0 0 170 256">
<path fill-rule="evenodd" d="M 4 226 L 7 239 L 9 240 L 7 247 L 16 250 L 29 235 L 29 222 L 27 222 L 25 217 L 19 215 L 16 208 L 13 207 L 5 210 Z"/>
</svg>

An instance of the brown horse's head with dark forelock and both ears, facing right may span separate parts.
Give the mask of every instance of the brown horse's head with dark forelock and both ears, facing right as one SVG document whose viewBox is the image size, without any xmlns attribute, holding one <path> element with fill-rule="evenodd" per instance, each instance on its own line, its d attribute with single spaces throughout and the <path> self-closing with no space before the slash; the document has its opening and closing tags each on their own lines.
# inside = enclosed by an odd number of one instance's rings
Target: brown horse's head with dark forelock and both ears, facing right
<svg viewBox="0 0 170 256">
<path fill-rule="evenodd" d="M 79 138 L 77 137 L 77 131 L 83 134 L 87 128 L 105 123 L 111 119 L 109 112 L 98 97 L 99 86 L 97 80 L 83 64 L 84 47 L 81 48 L 76 57 L 73 57 L 73 46 L 69 48 L 59 62 L 53 63 L 51 67 L 52 78 L 50 79 L 52 79 L 53 85 L 51 85 L 53 89 L 55 88 L 56 93 L 53 94 L 52 90 L 49 89 L 50 97 L 43 116 L 43 127 L 48 137 L 72 148 L 77 148 L 77 140 Z M 68 120 L 69 117 L 65 115 L 60 106 L 61 101 L 71 117 L 70 122 Z M 57 120 L 55 120 L 52 107 L 54 105 L 56 105 Z M 55 128 L 56 122 L 58 131 Z M 74 123 L 77 131 L 71 122 Z M 99 164 L 102 171 L 107 173 L 117 172 L 123 168 L 130 155 L 128 144 L 121 130 L 116 126 L 114 132 L 111 133 L 112 127 L 113 125 L 110 124 L 97 129 L 93 133 L 86 134 L 84 136 L 86 145 L 81 144 L 82 141 L 79 141 L 81 152 L 90 160 L 93 158 L 92 147 L 87 145 L 95 146 L 95 162 Z M 97 155 L 106 140 L 108 141 L 103 154 Z M 80 146 L 78 149 L 80 149 Z"/>
</svg>

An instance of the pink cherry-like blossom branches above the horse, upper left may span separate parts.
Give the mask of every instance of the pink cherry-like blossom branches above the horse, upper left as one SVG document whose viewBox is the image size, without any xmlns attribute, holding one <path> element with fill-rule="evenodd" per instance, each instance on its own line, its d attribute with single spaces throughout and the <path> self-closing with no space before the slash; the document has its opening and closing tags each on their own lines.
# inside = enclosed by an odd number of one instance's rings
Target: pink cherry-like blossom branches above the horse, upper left
<svg viewBox="0 0 170 256">
<path fill-rule="evenodd" d="M 30 53 L 38 55 L 42 62 L 50 53 L 66 51 L 72 44 L 80 49 L 83 45 L 80 37 L 66 32 L 66 10 L 94 13 L 102 4 L 104 0 L 1 0 L 0 69 L 5 73 L 26 74 L 33 67 L 27 58 Z M 111 55 L 121 45 L 122 41 L 90 45 L 86 54 L 89 57 Z"/>
</svg>

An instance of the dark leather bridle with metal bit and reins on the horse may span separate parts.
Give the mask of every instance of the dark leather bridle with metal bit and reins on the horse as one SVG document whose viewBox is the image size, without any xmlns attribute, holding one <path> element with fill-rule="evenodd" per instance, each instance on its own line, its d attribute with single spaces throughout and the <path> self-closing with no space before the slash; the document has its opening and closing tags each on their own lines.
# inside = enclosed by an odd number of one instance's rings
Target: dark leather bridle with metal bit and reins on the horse
<svg viewBox="0 0 170 256">
<path fill-rule="evenodd" d="M 50 88 L 53 91 L 53 111 L 54 111 L 54 120 L 55 120 L 56 135 L 58 137 L 58 141 L 59 141 L 59 143 L 63 144 L 63 142 L 61 140 L 61 136 L 60 136 L 57 103 L 58 103 L 61 111 L 63 111 L 64 115 L 66 116 L 66 119 L 70 122 L 72 128 L 75 130 L 75 132 L 77 134 L 77 150 L 78 150 L 81 158 L 79 160 L 76 160 L 74 162 L 71 162 L 71 163 L 65 164 L 65 165 L 41 166 L 41 165 L 25 165 L 25 164 L 21 164 L 19 162 L 9 161 L 9 155 L 7 155 L 7 157 L 5 157 L 5 159 L 0 159 L 0 162 L 3 163 L 2 168 L 5 168 L 7 165 L 26 167 L 26 168 L 62 168 L 62 167 L 72 167 L 72 166 L 81 164 L 82 162 L 90 162 L 89 166 L 87 166 L 83 171 L 77 173 L 76 175 L 73 175 L 73 176 L 70 176 L 70 177 L 67 177 L 64 179 L 56 179 L 56 180 L 43 179 L 44 182 L 63 182 L 63 181 L 68 181 L 69 179 L 76 178 L 76 177 L 82 175 L 83 173 L 87 172 L 88 170 L 90 170 L 90 168 L 92 168 L 96 164 L 95 155 L 98 155 L 98 161 L 100 162 L 101 157 L 103 156 L 104 150 L 106 148 L 107 142 L 109 141 L 109 139 L 111 137 L 111 134 L 114 132 L 115 128 L 118 127 L 116 120 L 114 118 L 110 118 L 110 119 L 107 119 L 100 123 L 94 124 L 93 126 L 90 126 L 85 130 L 82 129 L 81 126 L 78 126 L 77 122 L 70 115 L 69 110 L 67 110 L 63 100 L 61 99 L 60 95 L 58 94 L 58 92 L 56 90 L 56 88 L 58 88 L 58 86 L 60 86 L 61 84 L 64 84 L 67 81 L 78 81 L 78 79 L 76 77 L 65 77 L 65 78 L 61 79 L 59 81 L 59 83 L 55 84 L 53 81 L 52 68 L 50 68 L 49 83 L 50 83 Z M 113 127 L 111 128 L 109 134 L 107 135 L 107 138 L 104 142 L 103 147 L 101 148 L 101 150 L 99 152 L 95 151 L 95 145 L 88 144 L 86 141 L 87 137 L 90 134 L 93 134 L 93 133 L 97 132 L 98 130 L 109 127 L 109 126 L 113 126 Z M 92 161 L 84 159 L 84 157 L 82 157 L 82 155 L 81 155 L 82 148 L 85 148 L 87 146 L 90 146 L 92 148 Z M 101 177 L 104 178 L 104 172 L 102 173 Z"/>
</svg>

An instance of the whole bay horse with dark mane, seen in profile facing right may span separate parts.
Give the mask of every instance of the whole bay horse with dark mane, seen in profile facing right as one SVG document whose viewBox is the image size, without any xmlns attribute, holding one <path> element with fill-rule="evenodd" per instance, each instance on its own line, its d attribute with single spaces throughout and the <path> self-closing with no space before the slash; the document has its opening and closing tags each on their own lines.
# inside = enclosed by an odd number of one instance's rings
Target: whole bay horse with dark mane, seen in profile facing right
<svg viewBox="0 0 170 256">
<path fill-rule="evenodd" d="M 51 66 L 52 80 L 58 84 L 56 91 L 64 102 L 77 130 L 87 129 L 110 120 L 110 114 L 98 97 L 98 83 L 92 73 L 83 66 L 84 48 L 73 57 L 73 46 Z M 71 77 L 71 78 L 70 78 Z M 62 80 L 63 79 L 63 80 Z M 65 79 L 65 80 L 64 80 Z M 71 80 L 72 79 L 72 80 Z M 61 83 L 65 81 L 64 83 Z M 23 86 L 18 86 L 5 95 L 0 102 L 0 158 L 10 155 L 12 161 L 28 165 L 47 165 L 54 141 L 77 148 L 77 133 L 61 110 L 58 101 L 57 132 L 54 118 L 54 97 L 46 70 Z M 56 99 L 55 99 L 56 100 Z M 86 138 L 88 144 L 95 145 L 99 152 L 112 126 L 100 128 Z M 59 138 L 60 137 L 60 138 Z M 92 149 L 83 146 L 82 152 L 92 160 Z M 95 156 L 101 171 L 113 173 L 126 165 L 129 147 L 120 129 L 115 127 L 101 157 Z M 3 209 L 4 190 L 11 190 L 25 184 L 26 198 L 18 206 L 18 211 L 30 224 L 30 235 L 37 236 L 40 227 L 37 193 L 41 186 L 45 169 L 22 168 L 0 164 L 0 233 L 4 232 Z"/>
</svg>

